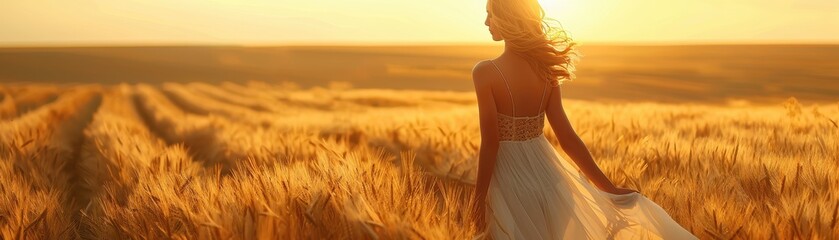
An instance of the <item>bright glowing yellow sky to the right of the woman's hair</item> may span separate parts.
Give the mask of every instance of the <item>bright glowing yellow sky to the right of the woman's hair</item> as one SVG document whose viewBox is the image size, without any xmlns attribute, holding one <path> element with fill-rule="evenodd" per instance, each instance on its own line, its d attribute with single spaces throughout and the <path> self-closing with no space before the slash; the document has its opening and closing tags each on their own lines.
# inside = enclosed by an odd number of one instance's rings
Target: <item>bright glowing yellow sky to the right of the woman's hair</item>
<svg viewBox="0 0 839 240">
<path fill-rule="evenodd" d="M 539 0 L 578 40 L 839 42 L 837 1 Z"/>
</svg>

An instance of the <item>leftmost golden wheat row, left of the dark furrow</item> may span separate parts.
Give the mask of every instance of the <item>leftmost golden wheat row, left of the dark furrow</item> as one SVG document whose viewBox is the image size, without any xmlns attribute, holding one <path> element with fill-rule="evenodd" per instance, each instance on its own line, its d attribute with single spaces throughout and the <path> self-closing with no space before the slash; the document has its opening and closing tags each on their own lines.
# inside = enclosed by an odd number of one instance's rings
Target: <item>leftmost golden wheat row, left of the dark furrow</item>
<svg viewBox="0 0 839 240">
<path fill-rule="evenodd" d="M 99 105 L 95 89 L 73 89 L 56 101 L 0 123 L 0 236 L 66 239 L 77 235 L 72 172 L 81 130 Z"/>
</svg>

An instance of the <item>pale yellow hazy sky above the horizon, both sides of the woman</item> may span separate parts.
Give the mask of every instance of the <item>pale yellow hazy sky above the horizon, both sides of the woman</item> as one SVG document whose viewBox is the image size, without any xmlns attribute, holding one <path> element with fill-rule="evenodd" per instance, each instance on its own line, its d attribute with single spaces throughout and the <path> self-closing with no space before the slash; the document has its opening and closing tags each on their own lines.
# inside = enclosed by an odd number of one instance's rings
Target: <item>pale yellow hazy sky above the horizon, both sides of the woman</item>
<svg viewBox="0 0 839 240">
<path fill-rule="evenodd" d="M 837 0 L 540 0 L 581 42 L 839 43 Z M 0 45 L 490 42 L 485 0 L 0 0 Z"/>
</svg>

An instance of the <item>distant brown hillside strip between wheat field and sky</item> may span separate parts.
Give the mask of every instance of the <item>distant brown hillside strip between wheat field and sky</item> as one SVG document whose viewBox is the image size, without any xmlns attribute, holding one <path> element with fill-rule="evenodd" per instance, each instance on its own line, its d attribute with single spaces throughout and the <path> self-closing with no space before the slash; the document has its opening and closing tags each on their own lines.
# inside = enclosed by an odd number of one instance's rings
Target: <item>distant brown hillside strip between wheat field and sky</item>
<svg viewBox="0 0 839 240">
<path fill-rule="evenodd" d="M 0 49 L 0 81 L 290 81 L 302 87 L 471 91 L 499 46 L 68 47 Z M 564 94 L 662 102 L 839 101 L 839 45 L 583 46 Z"/>
</svg>

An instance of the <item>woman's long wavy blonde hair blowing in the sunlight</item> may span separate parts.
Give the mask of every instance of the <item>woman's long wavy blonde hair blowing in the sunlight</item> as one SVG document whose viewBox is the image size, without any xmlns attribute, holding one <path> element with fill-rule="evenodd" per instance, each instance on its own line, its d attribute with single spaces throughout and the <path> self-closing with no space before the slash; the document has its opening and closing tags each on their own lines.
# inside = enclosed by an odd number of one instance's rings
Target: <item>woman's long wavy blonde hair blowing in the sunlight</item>
<svg viewBox="0 0 839 240">
<path fill-rule="evenodd" d="M 537 0 L 489 0 L 490 25 L 538 76 L 558 86 L 572 80 L 578 52 L 568 34 L 551 23 Z"/>
</svg>

